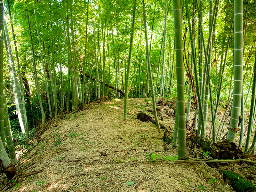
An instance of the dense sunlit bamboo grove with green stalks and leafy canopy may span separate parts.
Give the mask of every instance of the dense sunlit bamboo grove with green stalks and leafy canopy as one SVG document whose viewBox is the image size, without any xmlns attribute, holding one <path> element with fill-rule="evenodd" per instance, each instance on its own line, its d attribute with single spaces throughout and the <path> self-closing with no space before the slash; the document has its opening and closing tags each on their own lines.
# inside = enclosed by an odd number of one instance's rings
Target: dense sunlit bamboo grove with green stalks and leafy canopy
<svg viewBox="0 0 256 192">
<path fill-rule="evenodd" d="M 0 1 L 3 166 L 16 164 L 8 107 L 16 106 L 28 139 L 58 114 L 108 98 L 124 98 L 129 120 L 129 98 L 151 97 L 159 132 L 156 102 L 176 100 L 172 146 L 180 158 L 192 120 L 203 139 L 236 140 L 252 152 L 255 15 L 255 0 Z"/>
</svg>

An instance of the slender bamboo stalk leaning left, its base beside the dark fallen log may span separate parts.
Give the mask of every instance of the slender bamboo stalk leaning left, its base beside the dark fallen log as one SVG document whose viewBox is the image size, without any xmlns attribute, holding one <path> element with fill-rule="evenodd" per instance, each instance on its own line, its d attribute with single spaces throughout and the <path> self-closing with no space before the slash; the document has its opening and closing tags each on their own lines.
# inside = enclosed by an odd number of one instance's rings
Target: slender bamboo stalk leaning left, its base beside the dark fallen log
<svg viewBox="0 0 256 192">
<path fill-rule="evenodd" d="M 145 32 L 145 41 L 146 41 L 146 50 L 147 50 L 148 75 L 149 75 L 150 87 L 151 87 L 152 104 L 153 104 L 154 116 L 156 119 L 157 131 L 160 132 L 160 124 L 158 122 L 158 117 L 156 113 L 156 100 L 155 100 L 155 92 L 154 92 L 153 78 L 152 78 L 152 72 L 151 72 L 150 56 L 148 51 L 148 35 L 147 35 L 147 24 L 146 24 L 144 0 L 142 0 L 142 5 L 143 5 L 143 21 L 144 21 L 144 32 Z"/>
</svg>

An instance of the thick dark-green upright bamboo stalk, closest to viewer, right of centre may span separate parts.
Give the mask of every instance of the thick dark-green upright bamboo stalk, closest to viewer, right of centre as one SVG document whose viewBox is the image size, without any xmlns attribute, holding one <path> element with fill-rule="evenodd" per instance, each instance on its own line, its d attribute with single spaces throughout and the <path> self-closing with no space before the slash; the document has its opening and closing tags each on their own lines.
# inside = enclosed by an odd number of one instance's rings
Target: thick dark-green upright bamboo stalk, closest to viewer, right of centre
<svg viewBox="0 0 256 192">
<path fill-rule="evenodd" d="M 186 114 L 184 93 L 184 68 L 182 47 L 182 20 L 180 0 L 173 0 L 174 37 L 176 52 L 176 77 L 177 77 L 177 126 L 178 126 L 178 156 L 185 157 L 186 152 Z M 176 109 L 177 109 L 176 108 Z"/>
</svg>

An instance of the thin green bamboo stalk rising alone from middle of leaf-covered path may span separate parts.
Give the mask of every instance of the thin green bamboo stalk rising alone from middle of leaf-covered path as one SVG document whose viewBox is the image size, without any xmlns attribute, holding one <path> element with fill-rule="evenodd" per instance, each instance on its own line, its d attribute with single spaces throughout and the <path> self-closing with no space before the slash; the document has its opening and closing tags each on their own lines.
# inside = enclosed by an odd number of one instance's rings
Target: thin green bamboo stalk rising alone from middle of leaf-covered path
<svg viewBox="0 0 256 192">
<path fill-rule="evenodd" d="M 136 13 L 136 0 L 134 1 L 134 7 L 133 7 L 130 49 L 129 49 L 127 67 L 126 67 L 127 71 L 126 71 L 126 75 L 125 75 L 124 120 L 127 120 L 127 110 L 128 110 L 127 101 L 128 101 L 128 89 L 129 89 L 129 75 L 130 75 L 131 58 L 132 58 L 132 43 L 133 43 L 133 34 L 134 34 L 134 26 L 135 26 L 135 13 Z"/>
</svg>

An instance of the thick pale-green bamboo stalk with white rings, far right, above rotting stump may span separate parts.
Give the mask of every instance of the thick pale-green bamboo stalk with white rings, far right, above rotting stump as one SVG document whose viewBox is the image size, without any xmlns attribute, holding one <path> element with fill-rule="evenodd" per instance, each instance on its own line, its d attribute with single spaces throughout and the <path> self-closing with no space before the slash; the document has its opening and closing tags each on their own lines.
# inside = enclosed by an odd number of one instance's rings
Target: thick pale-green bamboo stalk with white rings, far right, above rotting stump
<svg viewBox="0 0 256 192">
<path fill-rule="evenodd" d="M 243 89 L 243 1 L 234 1 L 234 91 L 231 119 L 228 128 L 227 140 L 233 141 L 236 137 L 236 128 L 241 108 L 241 92 Z"/>
</svg>

